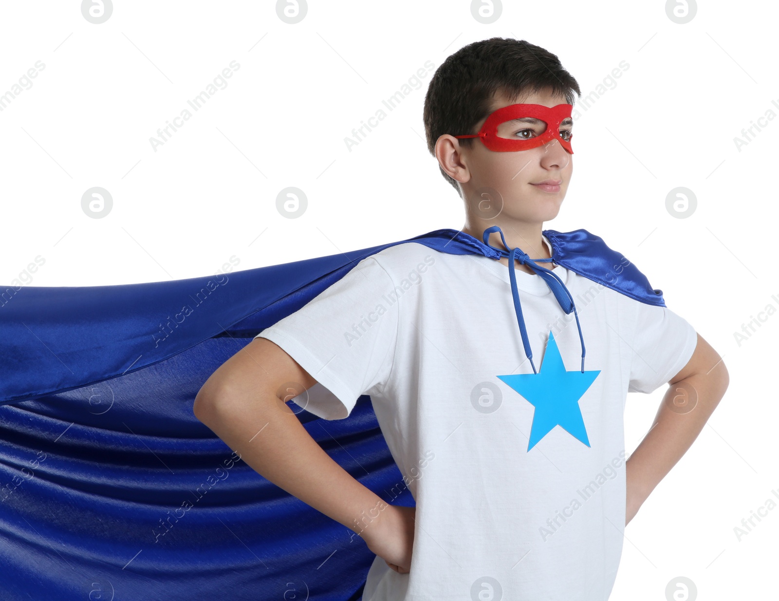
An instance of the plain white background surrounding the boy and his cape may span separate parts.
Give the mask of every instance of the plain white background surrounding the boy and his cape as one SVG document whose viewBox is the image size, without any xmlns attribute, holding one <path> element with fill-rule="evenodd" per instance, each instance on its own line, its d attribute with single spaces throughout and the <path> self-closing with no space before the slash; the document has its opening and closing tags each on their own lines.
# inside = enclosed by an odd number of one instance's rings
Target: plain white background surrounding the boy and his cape
<svg viewBox="0 0 779 601">
<path fill-rule="evenodd" d="M 4 2 L 0 94 L 13 97 L 0 111 L 2 288 L 169 281 L 231 257 L 245 270 L 459 229 L 462 201 L 425 146 L 432 72 L 395 110 L 382 100 L 425 62 L 435 69 L 488 37 L 552 51 L 583 95 L 626 61 L 586 111 L 575 104 L 573 179 L 545 228 L 586 228 L 628 257 L 723 355 L 731 384 L 626 528 L 611 598 L 666 599 L 679 576 L 700 599 L 775 595 L 779 507 L 740 541 L 734 528 L 779 503 L 779 119 L 740 150 L 734 138 L 769 109 L 779 115 L 776 5 L 701 3 L 684 24 L 664 2 L 505 2 L 500 12 L 484 24 L 462 0 L 311 2 L 290 24 L 274 2 L 136 0 L 93 24 L 79 2 Z M 16 88 L 38 61 L 32 85 Z M 232 61 L 227 87 L 192 111 L 187 100 Z M 192 118 L 153 150 L 150 138 L 184 108 Z M 387 118 L 347 150 L 344 138 L 379 108 Z M 113 200 L 102 218 L 82 209 L 93 186 Z M 301 217 L 277 210 L 287 186 L 305 193 Z M 688 217 L 666 208 L 678 186 L 696 196 Z M 739 345 L 735 332 L 769 305 Z M 662 394 L 629 395 L 629 452 Z"/>
</svg>

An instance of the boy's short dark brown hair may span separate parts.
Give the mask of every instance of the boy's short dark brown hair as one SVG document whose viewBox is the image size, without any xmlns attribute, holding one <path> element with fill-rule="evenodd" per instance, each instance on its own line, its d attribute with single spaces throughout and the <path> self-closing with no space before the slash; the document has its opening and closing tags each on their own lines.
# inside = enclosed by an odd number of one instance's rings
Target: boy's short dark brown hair
<svg viewBox="0 0 779 601">
<path fill-rule="evenodd" d="M 435 70 L 425 95 L 425 136 L 435 156 L 435 142 L 445 133 L 452 136 L 478 133 L 476 124 L 492 112 L 492 99 L 503 92 L 509 97 L 540 92 L 573 104 L 573 93 L 581 97 L 579 83 L 563 69 L 551 52 L 524 40 L 492 37 L 468 44 L 446 58 Z M 475 138 L 463 138 L 460 145 L 471 147 Z M 457 193 L 460 186 L 439 165 Z"/>
</svg>

